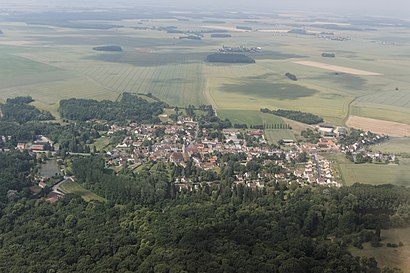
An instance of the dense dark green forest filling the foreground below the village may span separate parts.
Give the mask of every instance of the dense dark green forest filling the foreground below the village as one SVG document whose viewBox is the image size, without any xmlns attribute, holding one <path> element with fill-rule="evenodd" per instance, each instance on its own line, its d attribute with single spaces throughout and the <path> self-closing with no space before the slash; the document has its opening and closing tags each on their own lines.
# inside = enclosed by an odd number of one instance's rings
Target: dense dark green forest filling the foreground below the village
<svg viewBox="0 0 410 273">
<path fill-rule="evenodd" d="M 353 257 L 347 246 L 377 244 L 381 228 L 408 225 L 405 188 L 252 189 L 221 179 L 173 191 L 160 168 L 154 178 L 125 176 L 128 184 L 108 192 L 105 203 L 68 194 L 50 204 L 26 194 L 34 158 L 0 156 L 8 177 L 1 184 L 2 272 L 399 272 Z M 124 179 L 104 170 L 98 156 L 78 158 L 73 168 L 94 188 L 104 183 L 99 177 L 110 178 L 111 189 Z M 128 201 L 116 205 L 124 194 Z"/>
</svg>

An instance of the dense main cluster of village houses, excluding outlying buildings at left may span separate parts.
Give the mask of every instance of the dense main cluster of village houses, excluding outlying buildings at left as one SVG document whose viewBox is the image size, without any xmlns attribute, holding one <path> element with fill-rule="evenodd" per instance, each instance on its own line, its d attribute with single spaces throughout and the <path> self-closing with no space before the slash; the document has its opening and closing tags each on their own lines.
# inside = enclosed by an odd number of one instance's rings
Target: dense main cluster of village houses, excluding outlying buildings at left
<svg viewBox="0 0 410 273">
<path fill-rule="evenodd" d="M 186 167 L 187 161 L 192 160 L 192 163 L 200 169 L 216 170 L 226 165 L 226 162 L 221 160 L 225 154 L 241 154 L 243 165 L 254 158 L 281 155 L 283 160 L 275 162 L 280 167 L 277 173 L 262 171 L 257 175 L 251 175 L 248 172 L 235 174 L 235 183 L 261 188 L 265 186 L 265 181 L 290 182 L 297 179 L 303 183 L 339 186 L 333 179 L 330 162 L 324 158 L 314 162 L 315 166 L 318 166 L 314 168 L 314 174 L 307 171 L 300 174 L 293 172 L 287 163 L 295 162 L 300 153 L 306 152 L 307 148 L 298 147 L 295 143 L 288 144 L 285 150 L 272 147 L 265 140 L 264 131 L 260 129 L 224 129 L 219 134 L 215 134 L 214 129 L 200 129 L 198 124 L 192 120 L 179 120 L 177 124 L 168 125 L 112 126 L 108 136 L 116 131 L 126 131 L 127 136 L 112 151 L 107 152 L 110 156 L 107 161 L 108 167 L 127 166 L 135 169 L 147 160 L 168 161 Z M 317 150 L 310 149 L 309 154 L 321 152 L 324 149 L 332 151 L 337 149 L 337 146 L 330 140 L 326 142 L 323 140 L 318 147 Z M 195 182 L 187 177 L 178 178 L 175 183 L 180 189 L 195 188 Z M 199 184 L 196 186 L 199 187 Z"/>
</svg>

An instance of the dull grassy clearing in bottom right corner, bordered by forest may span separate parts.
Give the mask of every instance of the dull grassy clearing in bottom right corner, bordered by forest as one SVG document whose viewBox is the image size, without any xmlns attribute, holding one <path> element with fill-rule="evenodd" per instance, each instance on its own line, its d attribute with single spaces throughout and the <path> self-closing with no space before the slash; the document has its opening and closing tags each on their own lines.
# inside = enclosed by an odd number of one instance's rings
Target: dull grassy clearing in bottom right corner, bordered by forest
<svg viewBox="0 0 410 273">
<path fill-rule="evenodd" d="M 398 267 L 403 272 L 410 272 L 410 228 L 382 230 L 382 247 L 372 247 L 370 243 L 363 244 L 363 249 L 350 247 L 354 256 L 374 257 L 380 267 Z M 387 243 L 399 244 L 402 247 L 386 247 Z"/>
</svg>

